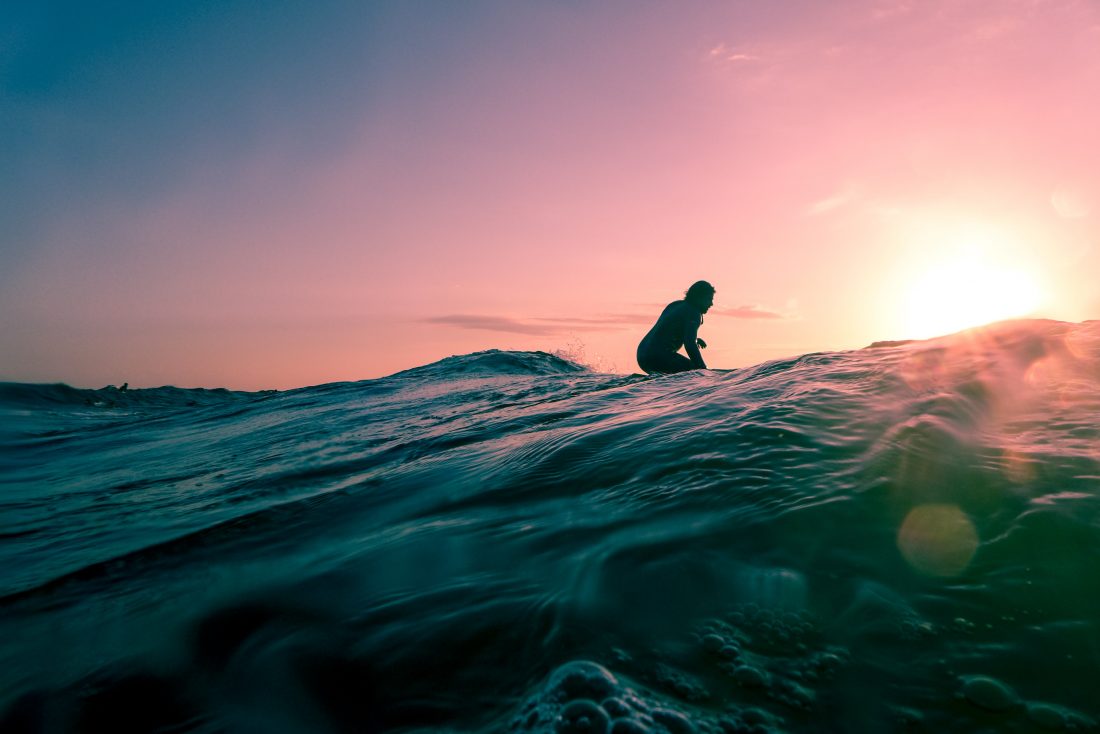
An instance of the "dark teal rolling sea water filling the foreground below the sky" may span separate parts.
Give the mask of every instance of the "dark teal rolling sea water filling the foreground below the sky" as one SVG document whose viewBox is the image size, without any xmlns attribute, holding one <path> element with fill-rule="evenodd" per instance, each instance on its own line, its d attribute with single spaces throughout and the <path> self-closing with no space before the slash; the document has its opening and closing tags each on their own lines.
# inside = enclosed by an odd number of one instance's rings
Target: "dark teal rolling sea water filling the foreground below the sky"
<svg viewBox="0 0 1100 734">
<path fill-rule="evenodd" d="M 1100 720 L 1100 322 L 0 386 L 3 732 Z"/>
</svg>

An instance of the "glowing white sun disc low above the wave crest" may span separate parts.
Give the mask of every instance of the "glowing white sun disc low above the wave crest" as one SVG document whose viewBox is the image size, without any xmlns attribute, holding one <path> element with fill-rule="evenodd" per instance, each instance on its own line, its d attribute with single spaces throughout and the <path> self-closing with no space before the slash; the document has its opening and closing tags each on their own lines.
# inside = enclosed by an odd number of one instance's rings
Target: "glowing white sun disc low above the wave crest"
<svg viewBox="0 0 1100 734">
<path fill-rule="evenodd" d="M 927 339 L 1032 315 L 1042 289 L 1028 271 L 979 252 L 959 253 L 921 272 L 904 304 L 906 337 Z"/>
</svg>

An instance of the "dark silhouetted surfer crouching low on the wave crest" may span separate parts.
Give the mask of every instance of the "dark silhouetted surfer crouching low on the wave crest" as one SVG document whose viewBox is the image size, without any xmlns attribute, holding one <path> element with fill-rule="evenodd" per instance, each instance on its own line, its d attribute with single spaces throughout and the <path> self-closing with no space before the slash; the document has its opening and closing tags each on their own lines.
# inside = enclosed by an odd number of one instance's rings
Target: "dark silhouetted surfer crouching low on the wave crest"
<svg viewBox="0 0 1100 734">
<path fill-rule="evenodd" d="M 703 314 L 713 305 L 714 286 L 706 281 L 692 284 L 683 300 L 664 307 L 657 324 L 638 344 L 638 366 L 649 374 L 705 370 L 706 362 L 698 349 L 705 349 L 706 342 L 696 335 Z M 688 357 L 680 353 L 681 347 Z"/>
</svg>

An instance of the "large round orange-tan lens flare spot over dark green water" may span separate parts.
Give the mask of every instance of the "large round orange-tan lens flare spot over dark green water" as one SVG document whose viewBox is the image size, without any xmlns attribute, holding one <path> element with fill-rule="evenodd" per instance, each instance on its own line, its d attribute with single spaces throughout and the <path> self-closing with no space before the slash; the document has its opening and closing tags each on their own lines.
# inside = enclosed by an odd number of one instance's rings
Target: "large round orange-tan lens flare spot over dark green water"
<svg viewBox="0 0 1100 734">
<path fill-rule="evenodd" d="M 915 570 L 927 576 L 958 576 L 978 549 L 978 532 L 955 505 L 920 505 L 898 532 L 898 549 Z"/>
</svg>

